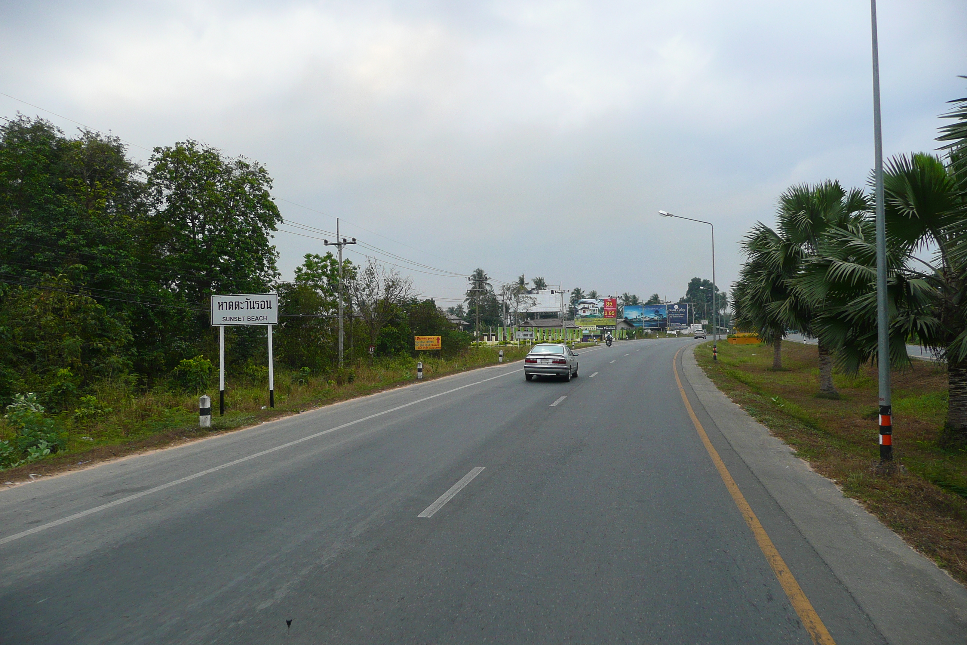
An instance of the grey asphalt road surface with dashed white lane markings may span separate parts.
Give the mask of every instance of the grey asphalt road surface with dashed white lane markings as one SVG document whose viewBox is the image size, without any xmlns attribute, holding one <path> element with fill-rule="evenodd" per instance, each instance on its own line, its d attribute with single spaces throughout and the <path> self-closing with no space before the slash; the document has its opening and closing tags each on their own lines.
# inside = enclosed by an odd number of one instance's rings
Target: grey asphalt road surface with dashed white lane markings
<svg viewBox="0 0 967 645">
<path fill-rule="evenodd" d="M 579 350 L 571 383 L 475 370 L 0 491 L 0 642 L 284 643 L 291 619 L 293 644 L 809 643 L 679 394 L 692 342 Z M 835 642 L 884 642 L 693 405 Z"/>
</svg>

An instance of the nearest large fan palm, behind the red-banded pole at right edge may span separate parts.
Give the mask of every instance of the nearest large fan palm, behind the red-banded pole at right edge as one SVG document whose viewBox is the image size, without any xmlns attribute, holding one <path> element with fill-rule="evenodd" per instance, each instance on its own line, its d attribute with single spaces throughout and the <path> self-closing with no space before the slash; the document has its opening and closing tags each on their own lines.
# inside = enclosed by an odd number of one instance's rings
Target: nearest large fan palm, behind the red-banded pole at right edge
<svg viewBox="0 0 967 645">
<path fill-rule="evenodd" d="M 967 105 L 967 99 L 960 101 Z M 961 123 L 967 110 L 961 108 Z M 890 354 L 908 365 L 906 341 L 918 339 L 947 360 L 949 408 L 941 444 L 967 445 L 967 128 L 947 162 L 930 154 L 898 156 L 884 171 Z M 928 261 L 917 253 L 934 249 Z M 835 229 L 806 272 L 808 288 L 831 305 L 817 316 L 820 337 L 836 343 L 855 370 L 876 356 L 875 226 L 870 219 Z"/>
</svg>

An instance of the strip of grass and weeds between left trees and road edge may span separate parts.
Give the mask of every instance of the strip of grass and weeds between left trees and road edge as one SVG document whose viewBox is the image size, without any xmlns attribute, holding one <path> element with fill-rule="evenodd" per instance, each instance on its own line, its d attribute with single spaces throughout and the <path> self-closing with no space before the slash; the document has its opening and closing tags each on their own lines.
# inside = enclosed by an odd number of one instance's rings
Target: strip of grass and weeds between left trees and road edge
<svg viewBox="0 0 967 645">
<path fill-rule="evenodd" d="M 529 347 L 468 347 L 439 358 L 425 352 L 424 379 L 517 361 Z M 268 408 L 264 368 L 226 378 L 225 415 L 218 410 L 218 374 L 204 359 L 182 366 L 186 388 L 159 386 L 139 394 L 103 383 L 81 396 L 74 407 L 48 411 L 36 395 L 17 396 L 0 421 L 0 453 L 4 481 L 67 470 L 94 460 L 158 448 L 273 418 L 328 405 L 356 396 L 416 382 L 418 359 L 407 355 L 362 361 L 351 368 L 317 373 L 309 368 L 276 373 L 276 407 Z M 212 396 L 212 427 L 198 427 L 198 396 Z M 52 450 L 53 449 L 53 450 Z M 51 452 L 53 454 L 51 454 Z M 45 458 L 44 458 L 45 457 Z"/>
</svg>

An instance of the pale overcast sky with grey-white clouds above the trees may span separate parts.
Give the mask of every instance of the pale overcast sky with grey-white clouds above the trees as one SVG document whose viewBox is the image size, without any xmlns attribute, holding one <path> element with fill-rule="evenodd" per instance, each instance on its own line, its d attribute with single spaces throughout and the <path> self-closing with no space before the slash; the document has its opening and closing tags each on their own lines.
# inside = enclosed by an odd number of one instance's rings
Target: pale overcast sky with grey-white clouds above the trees
<svg viewBox="0 0 967 645">
<path fill-rule="evenodd" d="M 0 92 L 140 160 L 194 138 L 261 161 L 286 220 L 339 217 L 461 275 L 678 298 L 711 278 L 709 228 L 663 209 L 715 222 L 730 290 L 779 192 L 864 186 L 873 163 L 863 0 L 0 7 Z M 883 0 L 879 20 L 885 152 L 933 150 L 967 94 L 967 3 Z M 76 132 L 0 96 L 17 111 Z M 277 243 L 283 278 L 322 251 Z M 462 277 L 409 273 L 441 306 L 462 297 Z"/>
</svg>

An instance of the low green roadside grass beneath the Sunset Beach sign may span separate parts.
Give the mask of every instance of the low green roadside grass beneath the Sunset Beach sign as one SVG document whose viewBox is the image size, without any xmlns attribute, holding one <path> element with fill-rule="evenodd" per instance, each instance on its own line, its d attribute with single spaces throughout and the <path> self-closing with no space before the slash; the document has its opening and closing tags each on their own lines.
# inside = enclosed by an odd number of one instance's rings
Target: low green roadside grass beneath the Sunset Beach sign
<svg viewBox="0 0 967 645">
<path fill-rule="evenodd" d="M 575 345 L 576 347 L 588 345 Z M 424 364 L 424 380 L 448 376 L 461 371 L 498 364 L 498 351 L 504 350 L 504 361 L 518 361 L 529 350 L 527 345 L 503 347 L 471 347 L 459 355 L 420 357 Z M 248 427 L 271 419 L 366 396 L 416 382 L 417 359 L 404 357 L 377 358 L 352 367 L 351 383 L 337 384 L 333 374 L 308 377 L 298 371 L 276 370 L 276 407 L 269 408 L 267 376 L 253 381 L 245 375 L 226 374 L 225 414 L 219 415 L 218 375 L 201 393 L 212 397 L 212 426 L 198 427 L 198 395 L 156 388 L 132 396 L 104 385 L 97 393 L 99 402 L 111 412 L 76 419 L 73 412 L 55 416 L 67 433 L 67 449 L 43 459 L 2 470 L 3 482 L 24 481 L 31 474 L 51 475 L 95 461 L 162 448 L 186 440 Z M 15 431 L 0 418 L 0 440 L 12 439 Z"/>
</svg>

